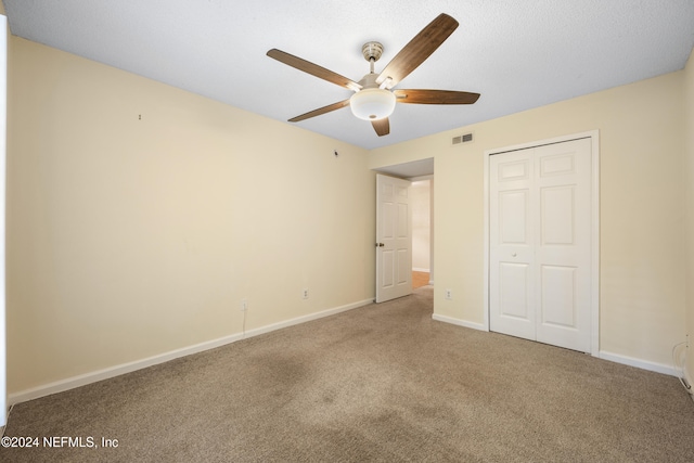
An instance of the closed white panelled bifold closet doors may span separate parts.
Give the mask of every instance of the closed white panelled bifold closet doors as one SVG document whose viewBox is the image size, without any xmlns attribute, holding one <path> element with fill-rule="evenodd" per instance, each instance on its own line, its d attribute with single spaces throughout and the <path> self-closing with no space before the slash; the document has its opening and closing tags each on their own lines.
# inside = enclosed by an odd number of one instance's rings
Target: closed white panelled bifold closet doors
<svg viewBox="0 0 694 463">
<path fill-rule="evenodd" d="M 591 350 L 591 140 L 491 156 L 490 330 Z"/>
</svg>

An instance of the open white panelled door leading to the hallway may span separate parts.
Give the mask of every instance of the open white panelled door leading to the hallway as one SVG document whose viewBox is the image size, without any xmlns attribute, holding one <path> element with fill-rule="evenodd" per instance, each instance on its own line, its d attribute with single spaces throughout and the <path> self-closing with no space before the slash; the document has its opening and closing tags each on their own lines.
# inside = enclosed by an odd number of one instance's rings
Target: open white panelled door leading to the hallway
<svg viewBox="0 0 694 463">
<path fill-rule="evenodd" d="M 376 176 L 376 303 L 412 293 L 410 182 Z"/>
</svg>

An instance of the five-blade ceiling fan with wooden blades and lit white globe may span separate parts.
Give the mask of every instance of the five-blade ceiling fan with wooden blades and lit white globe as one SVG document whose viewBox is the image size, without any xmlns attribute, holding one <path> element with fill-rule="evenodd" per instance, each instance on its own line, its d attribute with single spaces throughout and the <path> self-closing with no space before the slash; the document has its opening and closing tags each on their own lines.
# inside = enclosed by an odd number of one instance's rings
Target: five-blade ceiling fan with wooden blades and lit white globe
<svg viewBox="0 0 694 463">
<path fill-rule="evenodd" d="M 381 72 L 374 73 L 374 63 L 383 54 L 378 42 L 367 42 L 361 48 L 364 60 L 369 61 L 371 72 L 358 82 L 333 73 L 317 64 L 294 56 L 278 49 L 268 51 L 268 56 L 288 66 L 355 91 L 347 100 L 319 107 L 290 119 L 298 123 L 340 107 L 350 106 L 355 116 L 370 120 L 378 137 L 390 133 L 388 116 L 396 103 L 410 104 L 473 104 L 479 93 L 454 90 L 391 90 L 400 80 L 422 64 L 455 30 L 458 21 L 441 13 L 420 31 Z"/>
</svg>

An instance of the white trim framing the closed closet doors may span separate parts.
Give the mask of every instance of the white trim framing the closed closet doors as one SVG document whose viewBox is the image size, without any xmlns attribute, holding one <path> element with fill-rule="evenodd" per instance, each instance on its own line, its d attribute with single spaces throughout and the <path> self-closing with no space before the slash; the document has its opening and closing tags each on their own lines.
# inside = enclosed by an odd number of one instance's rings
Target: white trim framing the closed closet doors
<svg viewBox="0 0 694 463">
<path fill-rule="evenodd" d="M 489 158 L 494 154 L 525 150 L 545 144 L 563 143 L 578 139 L 591 139 L 591 351 L 600 355 L 600 131 L 573 133 L 528 143 L 486 150 L 484 154 L 485 233 L 484 233 L 484 329 L 489 331 Z"/>
</svg>

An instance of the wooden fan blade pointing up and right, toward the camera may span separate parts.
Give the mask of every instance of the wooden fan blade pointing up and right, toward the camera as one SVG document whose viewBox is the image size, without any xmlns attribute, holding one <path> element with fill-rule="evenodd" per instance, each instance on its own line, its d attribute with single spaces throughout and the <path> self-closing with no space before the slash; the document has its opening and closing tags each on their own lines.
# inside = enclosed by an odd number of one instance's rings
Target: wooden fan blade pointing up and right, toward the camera
<svg viewBox="0 0 694 463">
<path fill-rule="evenodd" d="M 439 14 L 400 50 L 378 75 L 376 82 L 381 85 L 389 78 L 388 88 L 395 87 L 420 64 L 424 63 L 424 60 L 429 57 L 448 36 L 453 34 L 457 27 L 458 21 L 446 13 Z"/>
</svg>

